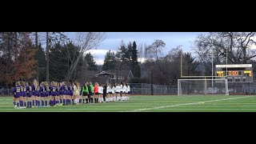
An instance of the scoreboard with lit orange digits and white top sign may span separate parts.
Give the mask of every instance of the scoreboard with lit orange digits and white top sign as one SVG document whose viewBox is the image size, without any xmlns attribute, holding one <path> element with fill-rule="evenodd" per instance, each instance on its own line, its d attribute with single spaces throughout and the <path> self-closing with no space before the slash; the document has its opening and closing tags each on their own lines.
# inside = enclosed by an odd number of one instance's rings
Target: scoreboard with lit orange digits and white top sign
<svg viewBox="0 0 256 144">
<path fill-rule="evenodd" d="M 216 65 L 215 76 L 228 82 L 253 82 L 252 64 Z"/>
</svg>

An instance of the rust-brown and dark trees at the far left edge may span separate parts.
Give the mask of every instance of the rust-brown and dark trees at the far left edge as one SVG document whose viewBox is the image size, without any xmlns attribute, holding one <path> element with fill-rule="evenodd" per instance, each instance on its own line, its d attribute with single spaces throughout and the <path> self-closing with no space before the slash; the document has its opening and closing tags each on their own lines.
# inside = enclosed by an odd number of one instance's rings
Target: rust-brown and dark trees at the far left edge
<svg viewBox="0 0 256 144">
<path fill-rule="evenodd" d="M 36 74 L 36 49 L 27 32 L 0 33 L 0 82 L 14 85 L 20 79 L 30 80 Z"/>
</svg>

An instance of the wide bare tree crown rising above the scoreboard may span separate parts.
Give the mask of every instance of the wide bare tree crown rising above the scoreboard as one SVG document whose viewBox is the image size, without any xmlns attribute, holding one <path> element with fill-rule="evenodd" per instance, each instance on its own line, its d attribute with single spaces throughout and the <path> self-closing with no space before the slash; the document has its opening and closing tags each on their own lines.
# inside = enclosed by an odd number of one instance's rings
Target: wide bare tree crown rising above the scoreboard
<svg viewBox="0 0 256 144">
<path fill-rule="evenodd" d="M 247 63 L 256 57 L 255 32 L 214 32 L 200 34 L 195 40 L 194 52 L 202 62 L 225 63 L 226 54 L 229 63 Z"/>
</svg>

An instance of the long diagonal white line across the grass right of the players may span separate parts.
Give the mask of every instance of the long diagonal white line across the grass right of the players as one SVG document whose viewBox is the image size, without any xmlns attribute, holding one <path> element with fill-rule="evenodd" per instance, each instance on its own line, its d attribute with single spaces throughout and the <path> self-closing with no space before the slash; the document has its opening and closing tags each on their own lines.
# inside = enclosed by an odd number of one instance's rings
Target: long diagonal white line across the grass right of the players
<svg viewBox="0 0 256 144">
<path fill-rule="evenodd" d="M 218 101 L 226 101 L 226 100 L 231 100 L 231 99 L 249 98 L 249 97 L 253 97 L 253 96 L 243 96 L 243 97 L 236 97 L 236 98 L 224 98 L 224 99 L 217 99 L 217 100 L 212 100 L 212 101 L 193 102 L 193 103 L 182 103 L 182 104 L 170 105 L 170 106 L 157 106 L 157 107 L 152 107 L 152 108 L 127 110 L 127 111 L 121 111 L 121 112 L 140 112 L 140 111 L 144 111 L 144 110 L 156 110 L 156 109 L 164 109 L 164 108 L 167 108 L 167 107 L 175 107 L 175 106 L 197 105 L 197 104 L 203 104 L 203 103 L 206 103 L 206 102 L 218 102 Z"/>
</svg>

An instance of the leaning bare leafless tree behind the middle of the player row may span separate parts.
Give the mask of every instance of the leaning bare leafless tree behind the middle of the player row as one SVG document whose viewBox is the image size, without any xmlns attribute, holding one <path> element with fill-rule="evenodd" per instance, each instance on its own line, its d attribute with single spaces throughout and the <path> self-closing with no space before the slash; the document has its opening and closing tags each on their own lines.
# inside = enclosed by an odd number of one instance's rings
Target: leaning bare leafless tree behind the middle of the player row
<svg viewBox="0 0 256 144">
<path fill-rule="evenodd" d="M 75 44 L 78 46 L 79 54 L 78 56 L 74 56 L 74 58 L 70 57 L 70 51 L 68 50 L 68 58 L 70 61 L 70 66 L 67 74 L 67 79 L 70 79 L 75 67 L 78 65 L 79 58 L 90 49 L 98 46 L 100 42 L 102 42 L 106 37 L 106 33 L 104 32 L 78 32 L 76 35 Z"/>
</svg>

